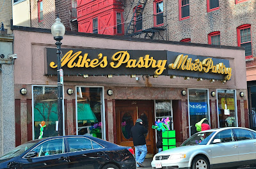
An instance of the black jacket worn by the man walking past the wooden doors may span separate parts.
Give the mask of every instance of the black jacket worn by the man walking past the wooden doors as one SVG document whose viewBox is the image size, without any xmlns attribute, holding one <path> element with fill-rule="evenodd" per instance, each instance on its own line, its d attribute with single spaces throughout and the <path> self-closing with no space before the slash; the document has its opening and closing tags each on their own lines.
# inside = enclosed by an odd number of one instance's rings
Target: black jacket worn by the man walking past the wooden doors
<svg viewBox="0 0 256 169">
<path fill-rule="evenodd" d="M 146 139 L 144 134 L 148 133 L 148 130 L 145 129 L 140 122 L 136 122 L 131 128 L 131 137 L 133 140 L 133 145 L 145 145 Z"/>
</svg>

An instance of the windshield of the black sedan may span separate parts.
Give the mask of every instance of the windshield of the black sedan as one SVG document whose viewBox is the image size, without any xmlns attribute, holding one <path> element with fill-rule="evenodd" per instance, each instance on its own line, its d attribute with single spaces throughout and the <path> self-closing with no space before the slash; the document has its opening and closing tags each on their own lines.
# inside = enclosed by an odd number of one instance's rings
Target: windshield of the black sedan
<svg viewBox="0 0 256 169">
<path fill-rule="evenodd" d="M 18 147 L 15 147 L 14 149 L 12 149 L 12 151 L 7 152 L 3 156 L 0 156 L 0 159 L 15 158 L 20 154 L 22 154 L 24 151 L 28 150 L 33 145 L 35 145 L 36 143 L 37 142 L 33 141 L 33 142 L 27 142 L 22 145 L 19 145 Z"/>
</svg>

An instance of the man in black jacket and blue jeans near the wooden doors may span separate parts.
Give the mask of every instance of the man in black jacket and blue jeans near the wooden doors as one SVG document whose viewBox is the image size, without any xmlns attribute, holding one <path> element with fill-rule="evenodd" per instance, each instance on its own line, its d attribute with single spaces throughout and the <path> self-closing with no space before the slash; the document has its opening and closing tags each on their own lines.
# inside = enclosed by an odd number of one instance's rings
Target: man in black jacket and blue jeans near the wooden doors
<svg viewBox="0 0 256 169">
<path fill-rule="evenodd" d="M 131 128 L 131 137 L 135 147 L 136 166 L 143 167 L 142 163 L 147 155 L 147 145 L 145 135 L 148 130 L 142 126 L 143 121 L 137 119 L 134 126 Z"/>
</svg>

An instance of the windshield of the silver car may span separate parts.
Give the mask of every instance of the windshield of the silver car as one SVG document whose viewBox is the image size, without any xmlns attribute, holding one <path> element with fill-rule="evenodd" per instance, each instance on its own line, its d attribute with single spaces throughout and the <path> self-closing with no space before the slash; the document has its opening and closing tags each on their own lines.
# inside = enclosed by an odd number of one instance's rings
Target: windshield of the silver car
<svg viewBox="0 0 256 169">
<path fill-rule="evenodd" d="M 212 135 L 214 135 L 214 132 L 207 132 L 204 133 L 195 133 L 195 135 L 191 136 L 186 140 L 184 143 L 182 143 L 181 146 L 186 145 L 206 145 L 209 140 L 211 139 Z"/>
</svg>

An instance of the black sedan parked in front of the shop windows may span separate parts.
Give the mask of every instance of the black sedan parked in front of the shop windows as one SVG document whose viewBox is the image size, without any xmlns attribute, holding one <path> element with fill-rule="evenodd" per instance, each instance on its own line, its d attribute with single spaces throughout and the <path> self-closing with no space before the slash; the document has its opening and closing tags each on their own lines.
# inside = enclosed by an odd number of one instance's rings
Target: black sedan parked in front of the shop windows
<svg viewBox="0 0 256 169">
<path fill-rule="evenodd" d="M 0 156 L 0 168 L 135 169 L 132 153 L 93 136 L 56 136 L 19 145 Z"/>
</svg>

